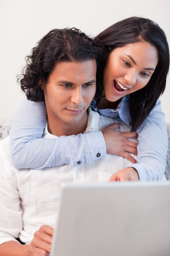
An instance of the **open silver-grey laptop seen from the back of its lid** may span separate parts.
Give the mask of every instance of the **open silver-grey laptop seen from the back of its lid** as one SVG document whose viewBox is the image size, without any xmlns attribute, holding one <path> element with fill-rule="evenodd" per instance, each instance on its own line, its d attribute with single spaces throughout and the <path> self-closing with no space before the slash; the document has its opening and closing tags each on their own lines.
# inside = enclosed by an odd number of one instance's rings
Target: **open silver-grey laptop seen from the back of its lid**
<svg viewBox="0 0 170 256">
<path fill-rule="evenodd" d="M 170 182 L 63 184 L 50 256 L 170 256 Z"/>
</svg>

